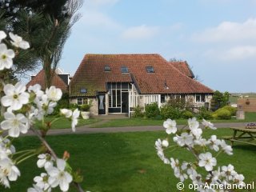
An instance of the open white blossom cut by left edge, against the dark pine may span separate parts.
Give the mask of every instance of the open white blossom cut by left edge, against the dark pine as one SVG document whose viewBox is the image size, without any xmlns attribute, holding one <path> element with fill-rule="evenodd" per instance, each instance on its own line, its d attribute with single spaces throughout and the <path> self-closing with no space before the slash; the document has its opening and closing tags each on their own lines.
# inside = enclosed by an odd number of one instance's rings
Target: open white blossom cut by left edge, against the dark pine
<svg viewBox="0 0 256 192">
<path fill-rule="evenodd" d="M 0 70 L 13 66 L 14 50 L 8 50 L 6 44 L 0 43 Z"/>
</svg>

